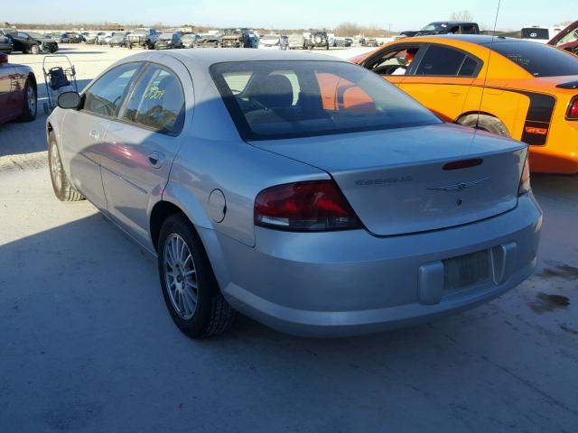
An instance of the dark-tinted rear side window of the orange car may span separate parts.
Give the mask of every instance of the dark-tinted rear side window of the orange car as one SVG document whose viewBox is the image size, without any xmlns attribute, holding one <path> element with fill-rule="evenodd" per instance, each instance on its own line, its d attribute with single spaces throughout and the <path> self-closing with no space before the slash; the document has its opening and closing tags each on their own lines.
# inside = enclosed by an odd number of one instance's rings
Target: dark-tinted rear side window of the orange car
<svg viewBox="0 0 578 433">
<path fill-rule="evenodd" d="M 477 69 L 478 62 L 464 52 L 430 45 L 415 75 L 472 77 Z"/>
</svg>

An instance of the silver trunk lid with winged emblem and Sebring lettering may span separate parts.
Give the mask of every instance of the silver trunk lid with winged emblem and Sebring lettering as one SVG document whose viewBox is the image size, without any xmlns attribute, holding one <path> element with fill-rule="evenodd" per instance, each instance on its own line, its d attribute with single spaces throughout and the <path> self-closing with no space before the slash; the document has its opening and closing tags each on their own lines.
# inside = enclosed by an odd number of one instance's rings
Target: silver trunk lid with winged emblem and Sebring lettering
<svg viewBox="0 0 578 433">
<path fill-rule="evenodd" d="M 374 235 L 459 226 L 516 207 L 527 154 L 523 143 L 451 124 L 251 144 L 327 171 Z"/>
</svg>

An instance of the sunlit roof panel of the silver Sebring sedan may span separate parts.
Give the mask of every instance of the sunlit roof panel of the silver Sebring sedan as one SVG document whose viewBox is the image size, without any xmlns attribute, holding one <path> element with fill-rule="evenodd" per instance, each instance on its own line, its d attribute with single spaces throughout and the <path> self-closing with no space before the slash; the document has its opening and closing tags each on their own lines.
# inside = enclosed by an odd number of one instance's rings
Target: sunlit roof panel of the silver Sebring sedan
<svg viewBox="0 0 578 433">
<path fill-rule="evenodd" d="M 266 60 L 324 60 L 345 61 L 326 54 L 310 51 L 252 50 L 238 48 L 221 48 L 219 50 L 178 50 L 167 54 L 177 59 L 188 60 L 197 65 L 210 67 L 215 63 L 227 61 L 266 61 Z M 154 54 L 152 54 L 154 58 Z"/>
</svg>

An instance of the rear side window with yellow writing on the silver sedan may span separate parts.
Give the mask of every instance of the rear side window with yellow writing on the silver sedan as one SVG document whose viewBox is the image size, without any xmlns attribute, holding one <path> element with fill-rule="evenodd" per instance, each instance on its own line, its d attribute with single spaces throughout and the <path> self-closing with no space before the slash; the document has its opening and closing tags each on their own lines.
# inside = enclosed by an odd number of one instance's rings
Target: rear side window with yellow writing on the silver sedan
<svg viewBox="0 0 578 433">
<path fill-rule="evenodd" d="M 149 66 L 128 100 L 123 119 L 159 133 L 181 133 L 184 94 L 179 78 L 162 66 Z"/>
</svg>

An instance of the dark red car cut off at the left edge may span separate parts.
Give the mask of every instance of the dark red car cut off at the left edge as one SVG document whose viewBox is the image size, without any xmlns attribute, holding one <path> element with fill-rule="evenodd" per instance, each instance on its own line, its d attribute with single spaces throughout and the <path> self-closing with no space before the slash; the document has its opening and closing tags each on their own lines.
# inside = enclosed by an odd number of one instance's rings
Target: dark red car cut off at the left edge
<svg viewBox="0 0 578 433">
<path fill-rule="evenodd" d="M 34 120 L 36 99 L 33 69 L 8 63 L 8 55 L 0 53 L 0 124 L 14 119 Z"/>
</svg>

